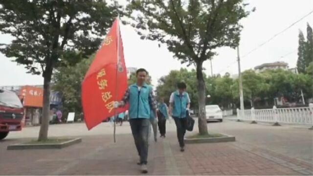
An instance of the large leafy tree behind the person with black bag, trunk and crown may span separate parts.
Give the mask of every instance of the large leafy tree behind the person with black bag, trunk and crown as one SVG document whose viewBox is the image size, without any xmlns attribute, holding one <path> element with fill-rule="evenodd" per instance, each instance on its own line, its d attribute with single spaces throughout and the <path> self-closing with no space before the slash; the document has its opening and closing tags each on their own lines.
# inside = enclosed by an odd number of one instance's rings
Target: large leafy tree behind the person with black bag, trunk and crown
<svg viewBox="0 0 313 176">
<path fill-rule="evenodd" d="M 133 0 L 128 6 L 141 12 L 130 13 L 141 39 L 165 43 L 175 58 L 196 66 L 201 134 L 207 134 L 203 62 L 218 47 L 238 45 L 245 6 L 243 0 Z"/>
</svg>

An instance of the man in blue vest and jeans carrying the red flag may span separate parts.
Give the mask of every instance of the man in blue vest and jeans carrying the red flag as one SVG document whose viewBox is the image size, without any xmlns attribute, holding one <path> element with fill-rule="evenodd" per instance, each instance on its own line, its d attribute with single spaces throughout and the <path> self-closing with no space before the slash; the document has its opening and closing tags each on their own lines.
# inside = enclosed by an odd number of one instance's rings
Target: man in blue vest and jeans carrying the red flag
<svg viewBox="0 0 313 176">
<path fill-rule="evenodd" d="M 151 109 L 157 117 L 157 104 L 153 89 L 150 85 L 145 83 L 147 75 L 147 70 L 139 68 L 136 71 L 136 83 L 129 86 L 122 101 L 118 103 L 118 106 L 123 107 L 129 102 L 130 125 L 134 137 L 134 143 L 140 158 L 137 164 L 141 165 L 142 173 L 148 173 L 148 133 Z"/>
</svg>

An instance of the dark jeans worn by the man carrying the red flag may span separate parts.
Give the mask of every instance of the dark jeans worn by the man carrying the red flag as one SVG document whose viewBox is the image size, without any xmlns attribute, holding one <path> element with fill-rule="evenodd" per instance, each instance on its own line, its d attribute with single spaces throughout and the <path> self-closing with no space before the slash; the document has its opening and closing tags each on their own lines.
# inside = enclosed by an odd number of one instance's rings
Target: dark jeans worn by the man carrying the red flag
<svg viewBox="0 0 313 176">
<path fill-rule="evenodd" d="M 148 133 L 149 133 L 149 119 L 136 118 L 130 119 L 130 125 L 134 136 L 134 142 L 140 156 L 140 163 L 147 164 L 148 158 Z"/>
</svg>

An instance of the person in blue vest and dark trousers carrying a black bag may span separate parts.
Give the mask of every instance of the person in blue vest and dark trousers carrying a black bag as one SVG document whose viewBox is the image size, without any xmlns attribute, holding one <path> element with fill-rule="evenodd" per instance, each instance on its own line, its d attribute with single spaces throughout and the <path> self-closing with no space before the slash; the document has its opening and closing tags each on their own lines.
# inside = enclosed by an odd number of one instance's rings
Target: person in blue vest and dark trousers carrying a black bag
<svg viewBox="0 0 313 176">
<path fill-rule="evenodd" d="M 176 124 L 177 138 L 179 141 L 180 151 L 184 151 L 184 135 L 186 133 L 186 111 L 190 108 L 190 98 L 186 92 L 186 84 L 181 82 L 177 84 L 178 90 L 174 91 L 170 96 L 170 114 Z"/>
</svg>

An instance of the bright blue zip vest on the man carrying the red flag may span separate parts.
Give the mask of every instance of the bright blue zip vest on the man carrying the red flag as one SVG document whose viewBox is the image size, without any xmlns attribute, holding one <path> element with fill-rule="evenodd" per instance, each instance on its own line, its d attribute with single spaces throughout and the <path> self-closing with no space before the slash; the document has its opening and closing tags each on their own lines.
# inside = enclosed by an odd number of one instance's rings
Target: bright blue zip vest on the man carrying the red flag
<svg viewBox="0 0 313 176">
<path fill-rule="evenodd" d="M 149 94 L 152 87 L 144 84 L 138 90 L 138 86 L 133 84 L 129 87 L 129 90 L 129 118 L 150 118 Z"/>
</svg>

